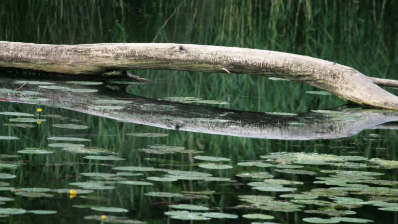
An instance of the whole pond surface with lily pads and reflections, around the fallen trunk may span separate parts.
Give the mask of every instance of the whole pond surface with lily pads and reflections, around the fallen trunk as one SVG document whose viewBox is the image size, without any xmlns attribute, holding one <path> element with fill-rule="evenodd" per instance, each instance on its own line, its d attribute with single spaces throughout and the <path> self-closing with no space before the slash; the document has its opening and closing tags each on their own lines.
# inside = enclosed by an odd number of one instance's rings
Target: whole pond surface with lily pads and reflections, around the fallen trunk
<svg viewBox="0 0 398 224">
<path fill-rule="evenodd" d="M 0 40 L 241 46 L 397 74 L 396 3 L 31 4 L 0 2 Z M 264 76 L 132 72 L 155 82 L 0 70 L 0 220 L 398 223 L 398 113 Z"/>
</svg>

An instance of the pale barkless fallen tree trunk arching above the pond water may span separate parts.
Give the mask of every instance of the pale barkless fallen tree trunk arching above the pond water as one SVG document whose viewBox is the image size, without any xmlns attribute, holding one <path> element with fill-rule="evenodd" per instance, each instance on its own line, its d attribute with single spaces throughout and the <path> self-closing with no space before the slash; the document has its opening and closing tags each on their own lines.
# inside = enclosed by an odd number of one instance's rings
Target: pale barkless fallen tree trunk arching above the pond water
<svg viewBox="0 0 398 224">
<path fill-rule="evenodd" d="M 269 50 L 170 43 L 46 45 L 0 41 L 0 67 L 66 74 L 168 69 L 268 75 L 302 81 L 360 105 L 398 110 L 398 97 L 357 70 Z"/>
</svg>

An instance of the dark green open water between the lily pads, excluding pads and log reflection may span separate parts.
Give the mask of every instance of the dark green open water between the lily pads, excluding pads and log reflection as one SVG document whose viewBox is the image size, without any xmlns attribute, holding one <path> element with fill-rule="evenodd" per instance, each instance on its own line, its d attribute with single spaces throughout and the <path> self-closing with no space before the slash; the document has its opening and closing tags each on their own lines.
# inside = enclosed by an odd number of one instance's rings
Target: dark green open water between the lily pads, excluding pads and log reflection
<svg viewBox="0 0 398 224">
<path fill-rule="evenodd" d="M 26 1 L 26 4 L 17 4 L 13 1 L 0 3 L 0 39 L 7 41 L 79 44 L 98 42 L 182 42 L 225 46 L 251 47 L 258 49 L 280 50 L 299 54 L 310 55 L 321 59 L 336 61 L 340 64 L 352 66 L 364 74 L 375 77 L 394 78 L 397 74 L 396 50 L 396 9 L 395 2 L 333 2 L 327 3 L 284 3 L 280 1 Z M 21 16 L 23 15 L 23 16 Z M 155 101 L 170 96 L 200 97 L 206 100 L 228 101 L 230 104 L 198 104 L 215 106 L 222 109 L 243 110 L 253 112 L 284 112 L 284 113 L 310 113 L 311 110 L 328 110 L 345 104 L 335 96 L 311 95 L 306 91 L 319 91 L 310 86 L 293 81 L 269 80 L 267 77 L 248 75 L 205 74 L 199 72 L 177 71 L 135 71 L 137 75 L 150 78 L 156 83 L 149 85 L 115 85 L 107 80 L 90 80 L 104 82 L 108 92 L 101 92 L 103 96 L 120 94 L 131 95 L 131 98 L 149 98 Z M 56 76 L 36 74 L 11 70 L 2 70 L 1 76 L 12 77 L 15 80 L 60 81 Z M 396 77 L 395 77 L 396 78 Z M 77 81 L 78 78 L 66 77 L 66 81 Z M 63 81 L 63 82 L 62 82 Z M 58 86 L 61 86 L 58 85 Z M 63 83 L 66 85 L 66 83 Z M 14 83 L 13 88 L 21 86 Z M 2 86 L 0 88 L 5 88 Z M 42 91 L 37 86 L 30 85 L 29 90 Z M 81 88 L 99 89 L 96 86 L 82 86 Z M 113 88 L 113 89 L 112 89 Z M 12 89 L 7 86 L 7 89 Z M 113 91 L 112 91 L 113 90 Z M 389 90 L 396 94 L 396 90 Z M 395 92 L 394 92 L 395 91 Z M 87 93 L 87 96 L 90 93 Z M 2 93 L 1 97 L 9 98 L 11 95 Z M 127 97 L 125 97 L 127 98 Z M 87 99 L 88 101 L 88 99 Z M 88 101 L 91 103 L 91 101 Z M 134 101 L 140 106 L 142 101 Z M 141 104 L 142 105 L 141 105 Z M 90 215 L 107 215 L 107 222 L 111 222 L 111 215 L 119 216 L 125 223 L 309 223 L 303 218 L 320 217 L 329 218 L 324 214 L 314 214 L 305 211 L 325 210 L 335 206 L 334 203 L 345 206 L 344 211 L 354 211 L 356 214 L 341 217 L 354 217 L 369 219 L 374 223 L 397 223 L 396 212 L 383 211 L 379 208 L 396 208 L 398 192 L 396 191 L 396 165 L 397 135 L 396 122 L 369 126 L 360 131 L 342 134 L 338 137 L 327 137 L 332 132 L 329 129 L 314 129 L 319 132 L 322 139 L 289 140 L 266 139 L 266 134 L 261 138 L 238 137 L 204 133 L 206 131 L 184 131 L 165 129 L 139 123 L 118 122 L 116 120 L 93 116 L 79 111 L 59 108 L 60 105 L 51 106 L 47 103 L 26 104 L 7 102 L 2 100 L 1 111 L 20 112 L 33 114 L 38 118 L 37 108 L 42 108 L 41 119 L 46 121 L 38 124 L 35 122 L 13 122 L 9 119 L 17 118 L 10 115 L 0 115 L 0 136 L 15 136 L 19 139 L 0 140 L 1 164 L 14 164 L 13 169 L 2 165 L 1 173 L 15 175 L 14 178 L 0 181 L 1 185 L 10 188 L 1 188 L 0 197 L 12 198 L 6 201 L 2 208 L 19 208 L 30 210 L 52 210 L 56 214 L 39 215 L 31 212 L 2 217 L 6 223 L 101 223 L 101 220 L 85 219 Z M 167 104 L 168 105 L 168 104 Z M 158 107 L 156 107 L 158 108 Z M 367 110 L 363 110 L 367 111 Z M 345 110 L 346 113 L 346 110 Z M 366 113 L 374 113 L 369 111 Z M 146 116 L 154 116 L 151 109 Z M 167 114 L 167 112 L 166 112 Z M 197 115 L 192 113 L 192 117 Z M 300 117 L 304 116 L 302 114 Z M 367 119 L 364 113 L 360 119 Z M 372 115 L 372 118 L 375 115 Z M 387 116 L 387 115 L 386 115 Z M 394 113 L 388 115 L 396 116 Z M 387 117 L 388 117 L 387 116 Z M 378 117 L 376 117 L 377 120 Z M 275 117 L 280 123 L 288 118 Z M 350 117 L 352 127 L 356 121 Z M 381 116 L 380 116 L 381 120 Z M 279 121 L 278 121 L 279 122 Z M 326 120 L 321 120 L 326 122 Z M 28 128 L 13 127 L 7 124 L 28 124 Z M 209 122 L 210 123 L 210 122 Z M 87 126 L 87 129 L 59 128 L 57 124 L 78 124 Z M 154 125 L 154 124 L 153 124 Z M 337 126 L 337 128 L 346 126 Z M 341 132 L 343 132 L 341 130 Z M 162 133 L 163 137 L 139 137 L 130 133 Z M 340 133 L 340 132 L 339 132 Z M 301 133 L 310 136 L 310 132 Z M 87 142 L 54 141 L 48 137 L 78 137 L 90 139 Z M 288 137 L 287 137 L 288 138 Z M 87 154 L 72 153 L 65 150 L 68 147 L 54 148 L 48 146 L 54 143 L 83 144 L 85 149 L 108 150 L 111 153 Z M 174 153 L 154 154 L 143 152 L 150 146 L 166 145 L 184 147 L 185 150 L 197 150 L 201 153 Z M 90 148 L 91 147 L 91 148 Z M 18 153 L 26 148 L 40 148 L 52 151 L 52 154 L 23 154 Z M 79 147 L 77 147 L 79 148 Z M 326 159 L 331 164 L 316 165 L 312 157 L 305 159 L 311 164 L 297 164 L 304 167 L 299 170 L 315 172 L 315 174 L 288 174 L 275 167 L 279 163 L 290 164 L 300 159 L 267 160 L 260 156 L 270 155 L 275 152 L 288 153 L 313 153 L 355 156 L 351 159 L 364 157 L 362 160 L 350 160 L 350 157 L 339 157 L 339 160 Z M 124 160 L 97 160 L 87 159 L 86 156 L 115 156 Z M 304 154 L 292 154 L 291 156 Z M 18 157 L 15 157 L 18 156 Z M 205 161 L 194 158 L 195 156 L 212 156 L 228 158 L 229 161 Z M 364 159 L 369 160 L 364 160 Z M 388 160 L 387 165 L 375 163 L 375 158 Z M 333 161 L 332 161 L 333 160 Z M 271 167 L 248 166 L 238 164 L 241 162 L 262 162 L 271 164 Z M 319 161 L 319 158 L 317 159 Z M 322 160 L 322 161 L 325 161 Z M 379 161 L 379 160 L 377 160 Z M 219 163 L 230 165 L 230 169 L 206 169 L 201 163 Z M 395 162 L 395 163 L 394 163 Z M 106 174 L 116 174 L 112 169 L 120 166 L 154 167 L 156 171 L 133 171 L 141 176 L 116 176 L 129 181 L 144 181 L 153 185 L 127 185 L 117 183 L 121 179 L 105 178 Z M 294 169 L 290 169 L 294 170 Z M 330 177 L 335 173 L 325 173 L 325 170 L 338 170 L 337 174 L 347 171 L 375 172 L 374 175 L 345 176 L 344 181 L 337 181 L 331 185 L 313 183 L 320 181 L 319 177 Z M 150 177 L 164 177 L 172 171 L 195 171 L 212 174 L 213 177 L 229 178 L 211 180 L 177 180 L 162 182 L 150 180 Z M 321 172 L 323 171 L 323 172 Z M 171 173 L 168 173 L 171 172 Z M 267 172 L 272 178 L 278 180 L 300 181 L 302 183 L 286 184 L 284 187 L 296 188 L 295 194 L 330 187 L 355 187 L 345 189 L 344 197 L 361 199 L 361 203 L 350 203 L 340 199 L 334 202 L 333 195 L 320 193 L 316 200 L 323 202 L 291 202 L 282 204 L 276 209 L 266 209 L 264 204 L 272 205 L 275 201 L 289 202 L 289 198 L 280 195 L 293 193 L 292 190 L 263 191 L 252 189 L 250 182 L 263 182 L 261 178 L 245 178 L 236 175 L 245 173 Z M 104 173 L 99 179 L 82 175 L 82 173 Z M 357 172 L 358 173 L 358 172 Z M 366 173 L 362 173 L 366 174 Z M 89 174 L 86 174 L 89 175 Z M 366 182 L 366 177 L 390 182 Z M 150 178 L 150 179 L 148 179 Z M 346 179 L 358 180 L 347 182 Z M 70 198 L 70 189 L 82 189 L 73 182 L 96 181 L 101 186 L 114 187 L 113 189 L 97 190 L 91 193 L 79 193 Z M 99 181 L 99 183 L 98 183 Z M 350 184 L 361 184 L 350 185 Z M 384 185 L 383 185 L 384 184 Z M 387 185 L 388 184 L 388 185 Z M 7 185 L 7 186 L 6 186 Z M 367 185 L 367 186 L 364 186 Z M 275 185 L 273 185 L 275 186 Z M 366 190 L 366 188 L 371 187 Z M 375 188 L 386 187 L 386 188 Z M 20 195 L 24 192 L 21 188 L 41 189 L 41 195 Z M 89 187 L 90 188 L 90 187 Z M 55 190 L 66 189 L 65 193 Z M 209 191 L 209 192 L 208 192 Z M 188 194 L 184 197 L 154 197 L 146 195 L 150 192 L 168 192 Z M 363 194 L 359 194 L 359 193 Z M 196 195 L 195 197 L 192 194 Z M 314 195 L 316 193 L 309 193 Z M 376 195 L 380 194 L 380 195 Z M 248 203 L 239 200 L 242 195 L 271 196 L 274 200 Z M 308 194 L 307 194 L 308 195 Z M 41 196 L 41 197 L 39 197 Z M 341 196 L 340 196 L 341 197 Z M 336 200 L 336 199 L 335 199 Z M 261 200 L 260 200 L 261 201 Z M 326 201 L 326 202 L 325 202 Z M 375 201 L 379 205 L 375 205 Z M 392 204 L 382 204 L 382 201 Z M 306 204 L 303 204 L 306 203 Z M 315 204 L 314 204 L 315 203 Z M 322 204 L 323 203 L 323 204 Z M 325 204 L 326 203 L 326 204 Z M 238 215 L 238 218 L 212 218 L 210 220 L 180 220 L 165 215 L 167 211 L 178 209 L 169 205 L 192 204 L 209 208 L 203 212 L 223 212 Z M 275 203 L 274 203 L 275 204 Z M 356 207 L 352 207 L 355 204 Z M 377 203 L 376 203 L 377 204 Z M 82 207 L 81 205 L 88 205 Z M 288 205 L 302 205 L 295 207 L 297 211 L 280 211 Z M 78 206 L 78 207 L 77 207 Z M 240 207 L 239 207 L 240 206 Z M 117 207 L 127 209 L 127 212 L 96 211 L 91 207 Z M 281 208 L 282 207 L 282 208 Z M 262 208 L 262 209 L 261 209 Z M 187 209 L 189 210 L 189 209 Z M 393 209 L 392 209 L 393 210 Z M 341 211 L 341 210 L 340 210 Z M 396 210 L 395 210 L 396 211 Z M 196 212 L 196 211 L 193 211 Z M 260 213 L 272 215 L 273 219 L 262 220 L 259 218 L 244 218 L 245 214 Z M 353 213 L 353 212 L 352 212 Z M 198 214 L 202 217 L 203 215 Z M 196 217 L 196 216 L 195 216 Z M 204 216 L 203 216 L 204 217 Z M 101 217 L 99 217 L 101 219 Z M 130 221 L 128 221 L 130 220 Z M 137 221 L 132 221 L 137 220 Z M 120 222 L 123 223 L 123 222 Z M 341 223 L 347 223 L 341 221 Z"/>
</svg>

